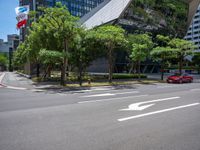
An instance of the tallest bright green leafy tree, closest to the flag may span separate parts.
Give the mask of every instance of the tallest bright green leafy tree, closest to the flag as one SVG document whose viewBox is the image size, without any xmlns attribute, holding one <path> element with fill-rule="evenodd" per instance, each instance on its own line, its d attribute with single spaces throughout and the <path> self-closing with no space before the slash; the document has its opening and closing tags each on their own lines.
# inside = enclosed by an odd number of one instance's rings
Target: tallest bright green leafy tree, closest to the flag
<svg viewBox="0 0 200 150">
<path fill-rule="evenodd" d="M 40 8 L 39 13 L 42 15 L 37 22 L 32 23 L 25 44 L 22 44 L 21 52 L 17 55 L 24 54 L 22 58 L 28 57 L 31 62 L 37 64 L 41 62 L 45 65 L 48 64 L 47 67 L 49 67 L 50 63 L 53 65 L 55 61 L 50 61 L 48 56 L 58 60 L 58 57 L 61 59 L 60 53 L 62 53 L 62 60 L 59 60 L 62 62 L 60 63 L 61 85 L 65 85 L 70 48 L 80 26 L 77 18 L 72 16 L 66 6 L 62 6 L 61 3 L 56 3 L 55 7 Z"/>
</svg>

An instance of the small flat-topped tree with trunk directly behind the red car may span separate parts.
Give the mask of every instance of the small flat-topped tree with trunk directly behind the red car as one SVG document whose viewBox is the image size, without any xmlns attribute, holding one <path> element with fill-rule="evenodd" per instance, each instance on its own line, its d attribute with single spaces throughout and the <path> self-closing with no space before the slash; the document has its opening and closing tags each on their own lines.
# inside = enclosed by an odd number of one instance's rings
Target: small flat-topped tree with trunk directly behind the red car
<svg viewBox="0 0 200 150">
<path fill-rule="evenodd" d="M 172 48 L 177 49 L 177 59 L 178 59 L 178 62 L 179 62 L 179 74 L 182 74 L 184 58 L 187 55 L 193 53 L 193 51 L 195 49 L 195 45 L 194 45 L 194 43 L 192 43 L 190 41 L 179 39 L 179 38 L 172 39 L 169 42 L 169 45 Z"/>
</svg>

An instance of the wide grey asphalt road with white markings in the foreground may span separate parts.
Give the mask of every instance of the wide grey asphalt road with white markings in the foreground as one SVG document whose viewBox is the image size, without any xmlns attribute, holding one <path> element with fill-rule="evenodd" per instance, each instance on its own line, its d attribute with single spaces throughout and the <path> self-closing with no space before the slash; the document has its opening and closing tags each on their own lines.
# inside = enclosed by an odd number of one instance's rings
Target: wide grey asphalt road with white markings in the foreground
<svg viewBox="0 0 200 150">
<path fill-rule="evenodd" d="M 0 87 L 0 150 L 200 150 L 200 83 Z"/>
</svg>

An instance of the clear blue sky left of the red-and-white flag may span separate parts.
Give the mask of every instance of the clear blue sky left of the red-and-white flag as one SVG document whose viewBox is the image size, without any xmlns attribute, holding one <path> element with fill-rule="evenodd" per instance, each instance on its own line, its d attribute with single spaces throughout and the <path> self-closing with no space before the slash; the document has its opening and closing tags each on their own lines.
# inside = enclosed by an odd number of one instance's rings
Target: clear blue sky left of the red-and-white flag
<svg viewBox="0 0 200 150">
<path fill-rule="evenodd" d="M 0 39 L 7 41 L 7 34 L 19 34 L 16 29 L 15 7 L 19 0 L 0 0 Z"/>
</svg>

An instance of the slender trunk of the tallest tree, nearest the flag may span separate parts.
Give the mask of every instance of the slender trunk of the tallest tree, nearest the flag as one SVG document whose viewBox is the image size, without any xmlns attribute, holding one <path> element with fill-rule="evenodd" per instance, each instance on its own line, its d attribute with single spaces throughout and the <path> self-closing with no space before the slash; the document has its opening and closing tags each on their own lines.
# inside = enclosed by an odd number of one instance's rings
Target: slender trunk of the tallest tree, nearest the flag
<svg viewBox="0 0 200 150">
<path fill-rule="evenodd" d="M 61 69 L 61 80 L 60 80 L 60 85 L 64 86 L 65 85 L 65 79 L 66 79 L 66 69 L 67 69 L 67 41 L 64 41 L 64 58 L 63 58 L 63 64 L 62 64 L 62 69 Z"/>
</svg>

